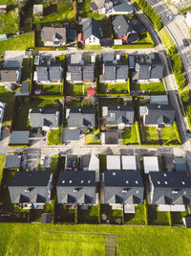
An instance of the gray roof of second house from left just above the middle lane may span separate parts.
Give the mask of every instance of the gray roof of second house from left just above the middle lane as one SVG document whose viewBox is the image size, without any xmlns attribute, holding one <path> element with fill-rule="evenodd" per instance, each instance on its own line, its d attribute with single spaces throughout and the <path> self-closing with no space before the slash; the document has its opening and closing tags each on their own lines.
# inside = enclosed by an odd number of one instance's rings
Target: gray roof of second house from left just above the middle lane
<svg viewBox="0 0 191 256">
<path fill-rule="evenodd" d="M 72 107 L 68 117 L 68 127 L 95 127 L 95 109 Z"/>
</svg>

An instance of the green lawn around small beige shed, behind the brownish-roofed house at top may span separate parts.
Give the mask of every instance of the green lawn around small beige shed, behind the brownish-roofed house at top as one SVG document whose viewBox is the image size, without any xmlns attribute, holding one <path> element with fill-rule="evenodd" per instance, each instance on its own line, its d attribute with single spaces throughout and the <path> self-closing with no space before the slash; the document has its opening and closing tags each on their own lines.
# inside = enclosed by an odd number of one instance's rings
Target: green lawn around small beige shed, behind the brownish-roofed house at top
<svg viewBox="0 0 191 256">
<path fill-rule="evenodd" d="M 63 0 L 54 3 L 43 3 L 43 17 L 33 17 L 33 23 L 45 23 L 53 21 L 70 20 L 74 21 L 73 2 Z"/>
</svg>

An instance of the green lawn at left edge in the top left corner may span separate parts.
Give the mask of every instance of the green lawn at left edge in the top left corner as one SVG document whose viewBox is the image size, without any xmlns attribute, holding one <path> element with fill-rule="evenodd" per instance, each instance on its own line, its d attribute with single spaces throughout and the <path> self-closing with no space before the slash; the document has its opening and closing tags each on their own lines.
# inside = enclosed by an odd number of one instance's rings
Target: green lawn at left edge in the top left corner
<svg viewBox="0 0 191 256">
<path fill-rule="evenodd" d="M 1 2 L 2 5 L 2 2 Z M 0 34 L 12 34 L 18 32 L 19 28 L 19 13 L 18 6 L 8 5 L 7 13 L 0 13 Z"/>
</svg>

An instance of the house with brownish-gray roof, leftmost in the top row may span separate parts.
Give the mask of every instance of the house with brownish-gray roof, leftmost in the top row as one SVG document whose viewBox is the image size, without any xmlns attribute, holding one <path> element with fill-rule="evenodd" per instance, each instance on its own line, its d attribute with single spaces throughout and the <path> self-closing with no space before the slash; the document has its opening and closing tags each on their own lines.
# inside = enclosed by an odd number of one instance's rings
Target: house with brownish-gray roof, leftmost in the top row
<svg viewBox="0 0 191 256">
<path fill-rule="evenodd" d="M 44 27 L 41 31 L 44 46 L 63 46 L 66 44 L 66 29 Z"/>
</svg>

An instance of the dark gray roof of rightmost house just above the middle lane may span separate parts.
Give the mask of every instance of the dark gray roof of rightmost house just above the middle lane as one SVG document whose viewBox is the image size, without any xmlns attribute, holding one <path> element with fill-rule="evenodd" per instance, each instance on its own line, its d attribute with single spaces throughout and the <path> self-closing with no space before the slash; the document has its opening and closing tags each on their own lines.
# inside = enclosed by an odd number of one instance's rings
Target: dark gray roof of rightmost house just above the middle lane
<svg viewBox="0 0 191 256">
<path fill-rule="evenodd" d="M 170 105 L 147 105 L 148 114 L 145 115 L 145 125 L 173 125 L 176 110 Z"/>
</svg>

